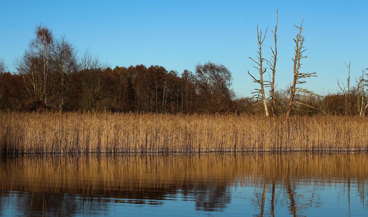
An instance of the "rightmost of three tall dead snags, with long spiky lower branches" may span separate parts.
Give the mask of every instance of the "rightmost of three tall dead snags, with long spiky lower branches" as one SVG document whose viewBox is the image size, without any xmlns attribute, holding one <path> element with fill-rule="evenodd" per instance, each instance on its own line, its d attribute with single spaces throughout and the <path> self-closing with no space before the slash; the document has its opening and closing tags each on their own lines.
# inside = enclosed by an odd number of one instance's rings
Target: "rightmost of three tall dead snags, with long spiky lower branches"
<svg viewBox="0 0 368 217">
<path fill-rule="evenodd" d="M 304 20 L 303 20 L 304 21 Z M 301 35 L 302 32 L 302 25 L 303 25 L 303 21 L 301 22 L 300 27 L 294 25 L 295 27 L 298 28 L 299 33 L 297 34 L 296 38 L 294 39 L 295 41 L 295 57 L 293 59 L 294 61 L 294 79 L 293 79 L 293 83 L 290 87 L 290 98 L 289 98 L 289 104 L 287 105 L 287 109 L 286 109 L 286 120 L 289 119 L 290 116 L 290 111 L 293 107 L 295 107 L 295 104 L 302 104 L 304 106 L 308 106 L 308 107 L 312 107 L 308 104 L 302 103 L 300 101 L 301 98 L 304 99 L 309 99 L 309 96 L 315 95 L 315 96 L 319 96 L 318 94 L 315 94 L 313 91 L 310 91 L 308 89 L 304 89 L 301 87 L 297 87 L 297 85 L 301 85 L 303 83 L 306 83 L 305 78 L 307 77 L 316 77 L 315 72 L 312 73 L 301 73 L 300 72 L 300 68 L 302 63 L 301 59 L 303 58 L 307 58 L 307 56 L 303 56 L 304 51 L 306 51 L 307 49 L 304 49 L 303 47 L 303 43 L 305 41 L 304 37 Z M 314 108 L 314 107 L 312 107 Z"/>
</svg>

